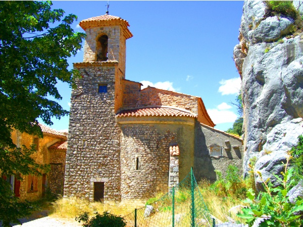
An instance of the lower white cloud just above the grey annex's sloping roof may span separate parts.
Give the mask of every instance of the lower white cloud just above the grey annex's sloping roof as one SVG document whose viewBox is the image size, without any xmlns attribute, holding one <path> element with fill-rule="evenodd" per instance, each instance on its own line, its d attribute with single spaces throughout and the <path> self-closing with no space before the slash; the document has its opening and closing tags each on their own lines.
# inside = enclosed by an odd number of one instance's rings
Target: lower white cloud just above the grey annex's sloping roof
<svg viewBox="0 0 303 227">
<path fill-rule="evenodd" d="M 207 109 L 207 112 L 215 124 L 233 123 L 238 116 L 230 109 L 231 106 L 225 102 L 217 105 L 215 109 Z"/>
</svg>

